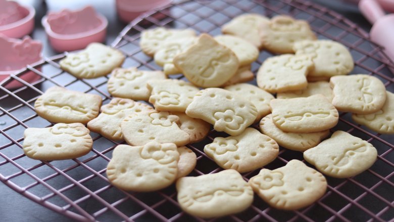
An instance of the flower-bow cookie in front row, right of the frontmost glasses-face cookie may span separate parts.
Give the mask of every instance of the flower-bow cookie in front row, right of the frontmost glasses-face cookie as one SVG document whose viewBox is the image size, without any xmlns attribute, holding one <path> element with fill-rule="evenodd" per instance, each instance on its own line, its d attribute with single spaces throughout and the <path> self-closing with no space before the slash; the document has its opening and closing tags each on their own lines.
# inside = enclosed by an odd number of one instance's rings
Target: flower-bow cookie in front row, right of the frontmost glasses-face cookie
<svg viewBox="0 0 394 222">
<path fill-rule="evenodd" d="M 322 197 L 327 188 L 324 176 L 299 160 L 274 170 L 262 169 L 249 184 L 270 206 L 283 210 L 306 207 Z"/>
</svg>

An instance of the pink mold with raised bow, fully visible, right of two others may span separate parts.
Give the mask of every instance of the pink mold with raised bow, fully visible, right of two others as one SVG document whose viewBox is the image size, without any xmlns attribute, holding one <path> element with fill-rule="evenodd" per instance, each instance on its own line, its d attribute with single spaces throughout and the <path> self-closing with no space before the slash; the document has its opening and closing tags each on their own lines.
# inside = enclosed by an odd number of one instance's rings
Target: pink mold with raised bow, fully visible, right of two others
<svg viewBox="0 0 394 222">
<path fill-rule="evenodd" d="M 86 48 L 91 42 L 103 42 L 107 33 L 107 18 L 93 7 L 81 10 L 51 12 L 41 20 L 51 46 L 58 52 Z"/>
</svg>

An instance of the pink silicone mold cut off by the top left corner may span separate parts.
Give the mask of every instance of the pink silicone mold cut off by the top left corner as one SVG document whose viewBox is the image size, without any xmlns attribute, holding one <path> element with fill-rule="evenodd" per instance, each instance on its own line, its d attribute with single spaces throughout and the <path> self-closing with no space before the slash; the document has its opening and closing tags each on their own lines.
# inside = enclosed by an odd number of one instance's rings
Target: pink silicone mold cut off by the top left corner
<svg viewBox="0 0 394 222">
<path fill-rule="evenodd" d="M 0 33 L 21 38 L 34 28 L 35 10 L 13 1 L 0 0 Z"/>
</svg>

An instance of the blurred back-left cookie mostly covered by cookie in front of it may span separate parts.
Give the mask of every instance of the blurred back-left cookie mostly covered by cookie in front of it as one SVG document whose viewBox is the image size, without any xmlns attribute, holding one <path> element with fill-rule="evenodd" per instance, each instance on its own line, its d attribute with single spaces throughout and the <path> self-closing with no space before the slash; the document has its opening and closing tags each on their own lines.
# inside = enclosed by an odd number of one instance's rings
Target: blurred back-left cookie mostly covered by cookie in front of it
<svg viewBox="0 0 394 222">
<path fill-rule="evenodd" d="M 153 57 L 167 40 L 181 39 L 195 36 L 192 29 L 166 29 L 163 27 L 147 29 L 141 32 L 139 46 L 142 52 Z"/>
</svg>

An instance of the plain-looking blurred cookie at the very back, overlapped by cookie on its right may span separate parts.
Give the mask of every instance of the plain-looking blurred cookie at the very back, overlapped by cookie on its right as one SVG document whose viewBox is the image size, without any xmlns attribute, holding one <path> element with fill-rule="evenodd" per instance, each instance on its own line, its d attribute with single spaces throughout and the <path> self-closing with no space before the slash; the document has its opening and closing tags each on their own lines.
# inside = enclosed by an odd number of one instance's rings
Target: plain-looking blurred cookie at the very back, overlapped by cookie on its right
<svg viewBox="0 0 394 222">
<path fill-rule="evenodd" d="M 243 38 L 257 48 L 262 48 L 259 29 L 263 23 L 269 23 L 267 17 L 259 14 L 242 14 L 233 18 L 229 23 L 222 26 L 222 32 Z"/>
</svg>

